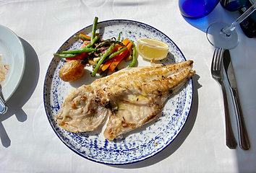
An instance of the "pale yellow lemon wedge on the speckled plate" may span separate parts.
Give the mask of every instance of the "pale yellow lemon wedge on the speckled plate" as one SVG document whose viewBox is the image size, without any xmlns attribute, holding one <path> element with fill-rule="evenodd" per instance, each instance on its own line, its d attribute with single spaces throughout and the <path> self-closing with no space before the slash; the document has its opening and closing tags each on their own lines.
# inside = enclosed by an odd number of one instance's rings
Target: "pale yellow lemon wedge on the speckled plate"
<svg viewBox="0 0 256 173">
<path fill-rule="evenodd" d="M 141 37 L 137 40 L 137 52 L 142 58 L 158 61 L 166 58 L 168 45 L 158 40 Z"/>
</svg>

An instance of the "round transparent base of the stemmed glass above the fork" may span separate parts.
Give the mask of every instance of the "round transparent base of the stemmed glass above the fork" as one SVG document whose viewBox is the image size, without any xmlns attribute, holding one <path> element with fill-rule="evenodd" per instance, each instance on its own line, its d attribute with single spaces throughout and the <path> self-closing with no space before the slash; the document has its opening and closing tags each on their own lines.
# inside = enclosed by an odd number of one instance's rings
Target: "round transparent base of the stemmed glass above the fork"
<svg viewBox="0 0 256 173">
<path fill-rule="evenodd" d="M 224 27 L 229 27 L 229 24 L 225 22 L 215 22 L 210 25 L 206 31 L 208 41 L 216 48 L 231 49 L 236 47 L 239 42 L 236 30 L 233 30 L 231 35 L 228 37 L 221 32 L 221 29 Z"/>
</svg>

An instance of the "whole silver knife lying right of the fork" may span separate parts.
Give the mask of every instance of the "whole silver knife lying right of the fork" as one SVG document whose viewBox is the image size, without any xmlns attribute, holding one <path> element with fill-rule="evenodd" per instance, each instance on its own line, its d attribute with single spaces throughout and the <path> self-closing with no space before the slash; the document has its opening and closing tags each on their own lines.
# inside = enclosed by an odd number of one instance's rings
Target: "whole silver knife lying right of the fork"
<svg viewBox="0 0 256 173">
<path fill-rule="evenodd" d="M 228 77 L 229 87 L 231 89 L 231 96 L 236 110 L 236 120 L 238 122 L 239 131 L 239 146 L 244 150 L 248 150 L 250 147 L 249 138 L 244 124 L 244 115 L 242 113 L 242 107 L 239 102 L 239 94 L 236 86 L 236 77 L 234 75 L 234 68 L 231 62 L 229 50 L 224 51 L 223 64 L 226 71 L 226 76 Z"/>
</svg>

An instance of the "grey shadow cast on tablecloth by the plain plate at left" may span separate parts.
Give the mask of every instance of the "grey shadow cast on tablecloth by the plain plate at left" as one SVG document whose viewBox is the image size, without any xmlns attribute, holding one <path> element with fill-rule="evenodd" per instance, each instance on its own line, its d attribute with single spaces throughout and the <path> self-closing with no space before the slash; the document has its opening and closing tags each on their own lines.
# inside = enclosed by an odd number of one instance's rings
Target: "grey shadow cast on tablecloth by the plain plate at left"
<svg viewBox="0 0 256 173">
<path fill-rule="evenodd" d="M 0 116 L 0 138 L 2 145 L 6 148 L 11 146 L 11 139 L 2 122 L 13 115 L 16 116 L 19 122 L 25 122 L 25 120 L 27 120 L 27 115 L 22 110 L 22 107 L 27 100 L 30 99 L 35 90 L 35 86 L 38 84 L 40 70 L 38 56 L 35 53 L 35 50 L 29 43 L 27 43 L 27 41 L 21 37 L 19 38 L 25 50 L 26 63 L 20 85 L 17 87 L 17 90 L 12 97 L 7 101 L 8 111 L 5 115 Z"/>
</svg>

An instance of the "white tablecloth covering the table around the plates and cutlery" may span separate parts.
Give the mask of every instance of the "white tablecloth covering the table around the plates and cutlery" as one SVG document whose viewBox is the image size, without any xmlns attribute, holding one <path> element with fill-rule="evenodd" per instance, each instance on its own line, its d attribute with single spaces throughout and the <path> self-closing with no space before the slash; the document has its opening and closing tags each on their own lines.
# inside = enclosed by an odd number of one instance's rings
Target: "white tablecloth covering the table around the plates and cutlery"
<svg viewBox="0 0 256 173">
<path fill-rule="evenodd" d="M 43 82 L 53 53 L 67 38 L 99 21 L 131 19 L 157 28 L 194 61 L 194 99 L 179 136 L 159 154 L 135 164 L 110 166 L 82 158 L 62 143 L 48 123 Z M 25 48 L 25 73 L 0 116 L 1 172 L 256 172 L 256 38 L 238 27 L 239 45 L 230 50 L 251 148 L 229 149 L 223 96 L 210 74 L 214 48 L 205 36 L 213 22 L 233 22 L 239 12 L 218 4 L 207 17 L 184 19 L 178 1 L 80 0 L 0 1 L 0 25 L 15 32 Z M 229 102 L 231 94 L 228 91 Z M 229 106 L 238 141 L 236 116 Z"/>
</svg>

